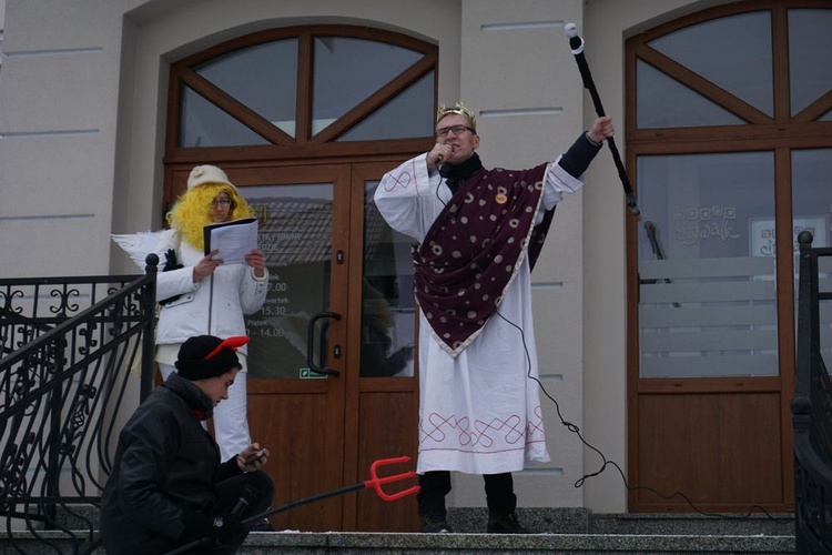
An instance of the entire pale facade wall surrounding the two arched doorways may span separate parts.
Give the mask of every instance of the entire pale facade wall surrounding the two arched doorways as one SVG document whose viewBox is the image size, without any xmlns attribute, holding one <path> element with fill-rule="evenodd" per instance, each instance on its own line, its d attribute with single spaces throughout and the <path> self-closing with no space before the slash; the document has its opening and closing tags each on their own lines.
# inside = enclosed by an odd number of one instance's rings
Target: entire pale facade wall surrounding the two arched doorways
<svg viewBox="0 0 832 555">
<path fill-rule="evenodd" d="M 0 275 L 136 273 L 111 233 L 161 224 L 171 61 L 301 23 L 358 23 L 440 44 L 439 101 L 483 112 L 488 167 L 526 168 L 595 119 L 562 24 L 575 22 L 622 155 L 623 40 L 713 0 L 0 0 Z M 6 7 L 4 10 L 1 8 Z M 518 110 L 534 109 L 532 114 Z M 540 373 L 564 417 L 626 471 L 626 206 L 608 149 L 558 208 L 534 273 Z M 552 462 L 516 477 L 520 506 L 623 512 L 600 467 L 541 397 Z M 451 505 L 484 505 L 457 477 Z"/>
</svg>

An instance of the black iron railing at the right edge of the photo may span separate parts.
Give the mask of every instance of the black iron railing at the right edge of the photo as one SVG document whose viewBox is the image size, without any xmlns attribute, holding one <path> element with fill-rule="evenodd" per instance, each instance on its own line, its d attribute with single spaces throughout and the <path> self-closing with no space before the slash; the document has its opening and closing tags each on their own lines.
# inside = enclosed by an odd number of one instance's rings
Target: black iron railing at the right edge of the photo
<svg viewBox="0 0 832 555">
<path fill-rule="evenodd" d="M 798 553 L 832 553 L 832 381 L 821 352 L 821 310 L 832 301 L 820 291 L 820 261 L 832 248 L 812 249 L 802 232 L 798 290 L 798 361 L 792 400 L 794 523 Z M 832 259 L 829 259 L 832 261 Z"/>
</svg>

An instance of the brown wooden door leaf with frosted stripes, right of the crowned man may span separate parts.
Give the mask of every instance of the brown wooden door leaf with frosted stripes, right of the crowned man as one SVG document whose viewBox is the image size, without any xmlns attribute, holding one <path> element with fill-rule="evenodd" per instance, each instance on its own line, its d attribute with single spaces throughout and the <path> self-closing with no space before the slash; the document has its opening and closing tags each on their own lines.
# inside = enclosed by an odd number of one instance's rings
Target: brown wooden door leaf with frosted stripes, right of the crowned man
<svg viewBox="0 0 832 555">
<path fill-rule="evenodd" d="M 629 508 L 789 511 L 793 343 L 778 335 L 792 329 L 778 284 L 791 273 L 771 246 L 780 161 L 755 151 L 639 164 Z"/>
</svg>

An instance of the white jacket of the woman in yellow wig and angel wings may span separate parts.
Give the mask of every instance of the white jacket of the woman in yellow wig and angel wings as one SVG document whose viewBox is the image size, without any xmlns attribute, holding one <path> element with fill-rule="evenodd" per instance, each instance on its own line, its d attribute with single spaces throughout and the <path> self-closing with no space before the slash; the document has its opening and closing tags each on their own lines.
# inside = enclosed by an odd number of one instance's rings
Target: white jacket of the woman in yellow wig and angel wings
<svg viewBox="0 0 832 555">
<path fill-rule="evenodd" d="M 156 275 L 156 301 L 181 295 L 162 306 L 156 324 L 156 343 L 184 343 L 194 335 L 246 335 L 244 314 L 257 312 L 266 300 L 268 270 L 263 278 L 245 264 L 222 264 L 199 283 L 193 282 L 193 266 L 204 256 L 192 245 L 181 242 L 177 252 L 183 268 Z M 246 354 L 246 347 L 240 349 Z"/>
</svg>

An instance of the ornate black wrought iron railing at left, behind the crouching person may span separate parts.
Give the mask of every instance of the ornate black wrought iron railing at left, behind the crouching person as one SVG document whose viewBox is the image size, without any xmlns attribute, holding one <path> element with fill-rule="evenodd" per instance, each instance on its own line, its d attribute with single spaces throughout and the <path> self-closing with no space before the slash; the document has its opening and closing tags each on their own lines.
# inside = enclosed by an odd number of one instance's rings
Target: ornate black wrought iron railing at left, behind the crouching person
<svg viewBox="0 0 832 555">
<path fill-rule="evenodd" d="M 97 547 L 122 402 L 152 387 L 155 276 L 0 279 L 0 516 L 67 553 Z M 54 533 L 62 531 L 61 546 Z M 80 532 L 79 532 L 80 531 Z M 6 552 L 4 552 L 6 553 Z"/>
</svg>

